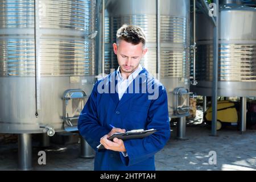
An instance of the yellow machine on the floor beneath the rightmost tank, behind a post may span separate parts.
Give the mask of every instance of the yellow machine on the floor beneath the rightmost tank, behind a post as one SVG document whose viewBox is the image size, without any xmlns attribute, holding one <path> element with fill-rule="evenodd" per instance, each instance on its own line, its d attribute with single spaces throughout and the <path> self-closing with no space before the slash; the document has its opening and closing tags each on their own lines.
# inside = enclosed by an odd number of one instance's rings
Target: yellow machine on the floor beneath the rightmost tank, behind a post
<svg viewBox="0 0 256 182">
<path fill-rule="evenodd" d="M 209 109 L 206 111 L 205 118 L 208 121 L 212 121 L 212 107 L 209 107 Z M 228 123 L 236 123 L 238 121 L 238 114 L 234 102 L 218 101 L 217 121 Z M 221 127 L 221 123 L 218 124 L 217 122 L 217 125 L 220 125 Z"/>
</svg>

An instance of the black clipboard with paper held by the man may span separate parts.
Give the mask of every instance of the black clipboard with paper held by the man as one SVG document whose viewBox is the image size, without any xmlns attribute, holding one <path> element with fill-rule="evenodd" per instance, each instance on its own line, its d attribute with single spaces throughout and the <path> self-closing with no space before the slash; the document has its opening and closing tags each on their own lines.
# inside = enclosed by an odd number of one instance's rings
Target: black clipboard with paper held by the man
<svg viewBox="0 0 256 182">
<path fill-rule="evenodd" d="M 155 133 L 157 130 L 155 129 L 150 129 L 150 130 L 131 130 L 127 131 L 126 133 L 114 133 L 111 135 L 108 139 L 112 140 L 114 138 L 122 139 L 122 140 L 130 140 L 130 139 L 142 139 L 145 137 L 148 137 L 149 135 Z M 105 149 L 103 144 L 99 144 L 97 146 L 98 150 L 103 150 Z"/>
</svg>

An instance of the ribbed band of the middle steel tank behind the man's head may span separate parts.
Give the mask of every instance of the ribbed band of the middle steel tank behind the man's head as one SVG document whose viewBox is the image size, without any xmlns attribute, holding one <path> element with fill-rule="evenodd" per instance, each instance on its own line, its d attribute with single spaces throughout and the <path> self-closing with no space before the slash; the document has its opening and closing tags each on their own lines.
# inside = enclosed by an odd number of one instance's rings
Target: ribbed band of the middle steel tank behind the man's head
<svg viewBox="0 0 256 182">
<path fill-rule="evenodd" d="M 189 44 L 188 20 L 186 18 L 161 16 L 161 77 L 188 77 Z M 151 73 L 156 73 L 156 16 L 130 15 L 105 18 L 105 71 L 117 69 L 118 63 L 112 50 L 112 43 L 116 42 L 115 33 L 123 24 L 133 24 L 142 27 L 148 48 L 141 64 Z M 109 26 L 112 32 L 109 32 Z"/>
</svg>

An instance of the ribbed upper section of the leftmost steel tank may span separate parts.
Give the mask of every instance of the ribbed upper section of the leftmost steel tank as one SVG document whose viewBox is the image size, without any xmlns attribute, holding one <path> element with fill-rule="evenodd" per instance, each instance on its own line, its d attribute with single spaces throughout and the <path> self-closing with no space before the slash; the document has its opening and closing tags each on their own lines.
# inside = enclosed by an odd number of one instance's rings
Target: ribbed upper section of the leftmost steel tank
<svg viewBox="0 0 256 182">
<path fill-rule="evenodd" d="M 93 75 L 92 1 L 40 1 L 42 76 Z M 34 76 L 34 1 L 0 5 L 0 76 Z"/>
</svg>

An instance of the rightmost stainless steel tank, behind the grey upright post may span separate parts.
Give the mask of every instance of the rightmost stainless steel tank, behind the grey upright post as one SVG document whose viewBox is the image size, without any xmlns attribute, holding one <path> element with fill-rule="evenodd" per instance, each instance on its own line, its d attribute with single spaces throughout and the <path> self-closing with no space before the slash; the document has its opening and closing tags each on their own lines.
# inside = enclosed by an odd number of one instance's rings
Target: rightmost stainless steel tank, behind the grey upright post
<svg viewBox="0 0 256 182">
<path fill-rule="evenodd" d="M 218 96 L 256 96 L 256 9 L 240 1 L 221 1 L 219 16 Z M 213 24 L 196 17 L 196 86 L 201 96 L 212 95 Z"/>
</svg>

